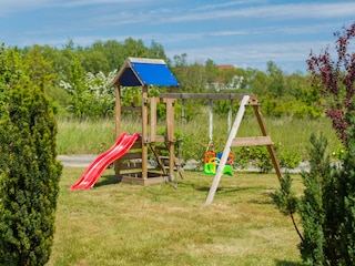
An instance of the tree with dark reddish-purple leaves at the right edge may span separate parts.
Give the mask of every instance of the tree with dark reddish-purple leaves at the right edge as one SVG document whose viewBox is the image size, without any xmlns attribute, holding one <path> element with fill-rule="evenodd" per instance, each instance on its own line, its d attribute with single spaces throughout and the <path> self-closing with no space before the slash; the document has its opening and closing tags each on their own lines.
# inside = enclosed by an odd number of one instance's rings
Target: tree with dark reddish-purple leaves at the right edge
<svg viewBox="0 0 355 266">
<path fill-rule="evenodd" d="M 307 60 L 312 84 L 318 90 L 324 101 L 326 115 L 332 119 L 333 127 L 346 144 L 346 130 L 349 126 L 349 113 L 355 110 L 355 52 L 351 52 L 351 40 L 355 37 L 355 23 L 343 32 L 335 32 L 337 38 L 333 60 L 329 47 L 320 55 L 311 52 Z"/>
</svg>

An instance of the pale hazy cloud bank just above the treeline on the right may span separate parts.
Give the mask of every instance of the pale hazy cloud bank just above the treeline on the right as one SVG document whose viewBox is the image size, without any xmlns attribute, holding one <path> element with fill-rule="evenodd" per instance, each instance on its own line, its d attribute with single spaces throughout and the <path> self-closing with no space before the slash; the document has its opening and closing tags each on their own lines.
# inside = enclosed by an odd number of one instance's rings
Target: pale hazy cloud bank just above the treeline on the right
<svg viewBox="0 0 355 266">
<path fill-rule="evenodd" d="M 266 69 L 267 61 L 274 61 L 285 71 L 306 71 L 306 60 L 311 50 L 320 52 L 326 48 L 326 41 L 300 41 L 281 43 L 247 43 L 236 45 L 202 47 L 191 49 L 172 49 L 166 51 L 169 58 L 187 54 L 190 63 L 203 63 L 212 59 L 216 64 L 234 64 L 240 68 Z M 317 53 L 316 52 L 316 53 Z"/>
</svg>

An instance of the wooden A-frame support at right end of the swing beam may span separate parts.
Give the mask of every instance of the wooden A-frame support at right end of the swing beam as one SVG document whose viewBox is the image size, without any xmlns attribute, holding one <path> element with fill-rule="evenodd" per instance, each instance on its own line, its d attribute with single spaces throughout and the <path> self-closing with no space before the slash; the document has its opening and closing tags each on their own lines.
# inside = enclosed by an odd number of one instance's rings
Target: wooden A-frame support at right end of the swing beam
<svg viewBox="0 0 355 266">
<path fill-rule="evenodd" d="M 256 119 L 257 119 L 257 123 L 258 123 L 258 126 L 261 127 L 263 136 L 235 137 L 235 135 L 240 129 L 244 113 L 245 113 L 245 105 L 253 106 Z M 235 116 L 235 121 L 233 123 L 233 126 L 230 131 L 227 142 L 224 146 L 223 154 L 222 154 L 222 157 L 220 161 L 220 165 L 217 167 L 217 171 L 216 171 L 215 176 L 213 178 L 212 185 L 210 187 L 210 192 L 209 192 L 209 195 L 207 195 L 207 198 L 205 202 L 206 205 L 209 205 L 213 202 L 215 192 L 219 187 L 219 183 L 220 183 L 222 174 L 223 174 L 223 168 L 225 166 L 229 154 L 231 152 L 231 147 L 232 146 L 260 146 L 260 145 L 267 146 L 267 151 L 270 153 L 270 156 L 271 156 L 272 163 L 274 165 L 275 172 L 277 174 L 278 181 L 281 181 L 282 173 L 281 173 L 280 164 L 276 158 L 276 154 L 275 154 L 275 151 L 273 147 L 273 142 L 272 142 L 271 137 L 267 135 L 265 124 L 264 124 L 262 115 L 260 113 L 257 100 L 254 96 L 244 95 L 241 101 L 241 105 L 240 105 L 240 109 L 239 109 L 237 114 Z"/>
</svg>

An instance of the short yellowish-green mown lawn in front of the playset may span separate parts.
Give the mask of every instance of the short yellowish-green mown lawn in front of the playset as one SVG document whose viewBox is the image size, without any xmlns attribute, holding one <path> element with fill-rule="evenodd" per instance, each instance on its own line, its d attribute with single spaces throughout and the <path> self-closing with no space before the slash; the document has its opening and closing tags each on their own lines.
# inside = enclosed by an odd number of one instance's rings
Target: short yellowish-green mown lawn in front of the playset
<svg viewBox="0 0 355 266">
<path fill-rule="evenodd" d="M 106 170 L 94 188 L 69 192 L 83 171 L 63 171 L 48 265 L 301 265 L 298 236 L 270 196 L 275 174 L 222 176 L 205 206 L 213 176 L 199 172 L 175 188 L 121 184 Z"/>
</svg>

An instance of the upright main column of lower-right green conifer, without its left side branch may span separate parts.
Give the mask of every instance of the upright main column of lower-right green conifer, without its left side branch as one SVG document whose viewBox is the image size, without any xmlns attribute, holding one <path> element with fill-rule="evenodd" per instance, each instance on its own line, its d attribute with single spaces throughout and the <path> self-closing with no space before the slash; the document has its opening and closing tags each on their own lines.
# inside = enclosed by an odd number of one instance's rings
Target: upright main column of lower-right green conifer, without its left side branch
<svg viewBox="0 0 355 266">
<path fill-rule="evenodd" d="M 305 186 L 304 195 L 300 201 L 300 215 L 303 225 L 303 239 L 300 244 L 302 258 L 306 265 L 325 265 L 327 258 L 325 252 L 331 243 L 326 243 L 328 236 L 333 236 L 333 222 L 331 214 L 332 201 L 334 201 L 331 186 L 332 170 L 331 160 L 326 155 L 327 140 L 314 134 L 311 136 L 310 166 L 311 171 L 302 173 Z M 334 209 L 333 209 L 334 211 Z M 329 234 L 329 235 L 328 235 Z M 336 250 L 336 249 L 334 249 Z"/>
</svg>

